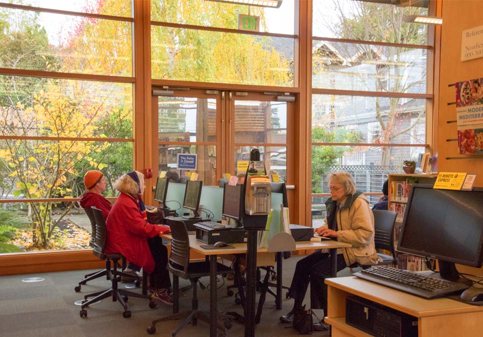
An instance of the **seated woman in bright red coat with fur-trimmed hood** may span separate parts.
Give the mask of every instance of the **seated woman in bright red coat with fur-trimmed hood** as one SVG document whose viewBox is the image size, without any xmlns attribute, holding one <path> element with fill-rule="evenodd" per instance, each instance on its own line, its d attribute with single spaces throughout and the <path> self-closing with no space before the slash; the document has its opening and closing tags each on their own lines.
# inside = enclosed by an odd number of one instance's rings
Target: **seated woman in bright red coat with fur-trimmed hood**
<svg viewBox="0 0 483 337">
<path fill-rule="evenodd" d="M 137 171 L 123 174 L 114 182 L 120 192 L 107 217 L 107 254 L 122 254 L 127 261 L 142 267 L 149 276 L 152 300 L 172 305 L 168 289 L 171 286 L 167 265 L 167 249 L 160 234 L 169 233 L 168 226 L 146 221 L 141 199 L 144 175 Z"/>
</svg>

